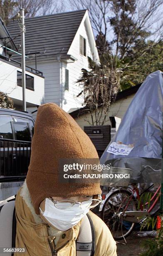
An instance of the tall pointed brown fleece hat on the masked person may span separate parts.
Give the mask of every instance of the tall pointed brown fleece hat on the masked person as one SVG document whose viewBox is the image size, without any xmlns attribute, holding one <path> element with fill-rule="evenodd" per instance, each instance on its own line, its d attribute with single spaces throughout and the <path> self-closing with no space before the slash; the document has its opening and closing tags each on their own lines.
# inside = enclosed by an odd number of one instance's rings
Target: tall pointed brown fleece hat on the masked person
<svg viewBox="0 0 163 256">
<path fill-rule="evenodd" d="M 32 152 L 26 182 L 35 212 L 46 197 L 72 197 L 101 194 L 99 183 L 61 184 L 59 159 L 98 159 L 96 149 L 74 121 L 54 103 L 37 111 Z"/>
</svg>

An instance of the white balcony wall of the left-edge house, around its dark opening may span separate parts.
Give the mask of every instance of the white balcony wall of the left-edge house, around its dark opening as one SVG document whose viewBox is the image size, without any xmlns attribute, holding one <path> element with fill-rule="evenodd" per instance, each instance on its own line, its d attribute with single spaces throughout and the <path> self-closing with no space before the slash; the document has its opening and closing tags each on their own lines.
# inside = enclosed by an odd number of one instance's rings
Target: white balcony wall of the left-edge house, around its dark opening
<svg viewBox="0 0 163 256">
<path fill-rule="evenodd" d="M 0 91 L 7 93 L 13 100 L 22 101 L 22 87 L 17 86 L 17 71 L 22 72 L 20 68 L 0 60 Z M 40 105 L 44 101 L 44 78 L 30 72 L 26 74 L 34 77 L 34 91 L 26 89 L 26 101 Z"/>
</svg>

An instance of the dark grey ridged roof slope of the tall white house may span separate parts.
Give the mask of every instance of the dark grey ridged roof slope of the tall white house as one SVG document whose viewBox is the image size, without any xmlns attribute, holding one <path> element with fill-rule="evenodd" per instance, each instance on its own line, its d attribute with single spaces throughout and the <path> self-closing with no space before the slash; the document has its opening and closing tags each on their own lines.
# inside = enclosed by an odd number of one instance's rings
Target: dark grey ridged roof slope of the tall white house
<svg viewBox="0 0 163 256">
<path fill-rule="evenodd" d="M 25 19 L 25 52 L 40 52 L 44 56 L 67 54 L 86 10 L 57 13 Z M 20 33 L 17 20 L 7 26 L 12 37 Z M 15 38 L 19 48 L 21 37 Z"/>
</svg>

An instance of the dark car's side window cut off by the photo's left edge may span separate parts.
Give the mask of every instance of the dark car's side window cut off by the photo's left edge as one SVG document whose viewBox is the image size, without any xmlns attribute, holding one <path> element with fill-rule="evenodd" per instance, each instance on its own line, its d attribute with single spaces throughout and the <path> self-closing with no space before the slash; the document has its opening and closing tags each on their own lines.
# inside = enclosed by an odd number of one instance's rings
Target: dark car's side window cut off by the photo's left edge
<svg viewBox="0 0 163 256">
<path fill-rule="evenodd" d="M 11 122 L 9 115 L 0 115 L 0 138 L 13 139 Z"/>
</svg>

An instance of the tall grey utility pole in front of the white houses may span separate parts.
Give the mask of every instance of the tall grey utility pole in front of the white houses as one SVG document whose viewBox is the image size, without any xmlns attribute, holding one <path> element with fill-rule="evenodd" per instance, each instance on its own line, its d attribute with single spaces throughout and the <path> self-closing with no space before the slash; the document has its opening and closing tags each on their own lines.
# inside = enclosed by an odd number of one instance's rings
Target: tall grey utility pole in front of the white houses
<svg viewBox="0 0 163 256">
<path fill-rule="evenodd" d="M 21 46 L 22 46 L 22 103 L 23 103 L 23 111 L 26 111 L 26 97 L 25 97 L 25 88 L 26 88 L 26 82 L 25 82 L 25 9 L 23 8 L 23 4 L 21 4 L 20 19 L 21 19 Z"/>
</svg>

